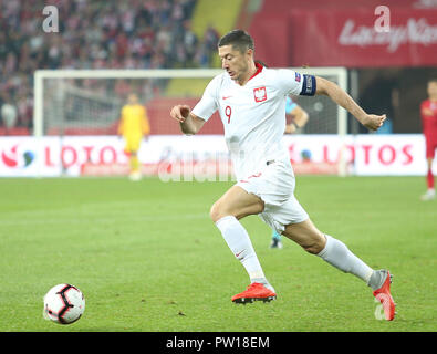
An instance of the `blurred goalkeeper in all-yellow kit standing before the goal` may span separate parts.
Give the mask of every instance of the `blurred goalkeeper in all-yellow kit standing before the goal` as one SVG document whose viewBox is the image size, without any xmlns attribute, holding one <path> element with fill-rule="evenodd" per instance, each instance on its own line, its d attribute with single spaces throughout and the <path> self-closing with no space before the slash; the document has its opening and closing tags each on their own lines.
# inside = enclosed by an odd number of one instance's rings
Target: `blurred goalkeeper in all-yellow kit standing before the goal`
<svg viewBox="0 0 437 354">
<path fill-rule="evenodd" d="M 127 104 L 122 108 L 118 134 L 123 135 L 126 146 L 125 152 L 129 155 L 132 180 L 142 178 L 138 160 L 138 150 L 144 136 L 150 133 L 146 107 L 138 103 L 138 96 L 134 93 L 127 97 Z"/>
</svg>

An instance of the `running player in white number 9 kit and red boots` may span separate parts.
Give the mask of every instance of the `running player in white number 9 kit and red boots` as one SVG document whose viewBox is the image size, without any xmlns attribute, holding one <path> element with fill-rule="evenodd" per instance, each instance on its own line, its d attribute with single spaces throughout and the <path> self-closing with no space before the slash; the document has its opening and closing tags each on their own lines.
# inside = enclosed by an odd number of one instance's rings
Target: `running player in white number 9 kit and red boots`
<svg viewBox="0 0 437 354">
<path fill-rule="evenodd" d="M 373 270 L 343 242 L 322 233 L 312 223 L 294 197 L 294 173 L 282 143 L 289 94 L 327 95 L 372 131 L 383 125 L 385 115 L 365 113 L 347 93 L 327 80 L 256 63 L 253 40 L 242 30 L 223 35 L 218 53 L 225 72 L 211 80 L 193 111 L 187 105 L 176 105 L 170 116 L 179 122 L 184 134 L 191 135 L 216 111 L 220 113 L 237 184 L 212 205 L 210 217 L 251 282 L 246 291 L 231 298 L 232 302 L 277 298 L 249 235 L 239 222 L 246 216 L 259 215 L 272 229 L 309 253 L 365 281 L 383 304 L 386 320 L 393 320 L 395 303 L 389 291 L 389 271 Z"/>
</svg>

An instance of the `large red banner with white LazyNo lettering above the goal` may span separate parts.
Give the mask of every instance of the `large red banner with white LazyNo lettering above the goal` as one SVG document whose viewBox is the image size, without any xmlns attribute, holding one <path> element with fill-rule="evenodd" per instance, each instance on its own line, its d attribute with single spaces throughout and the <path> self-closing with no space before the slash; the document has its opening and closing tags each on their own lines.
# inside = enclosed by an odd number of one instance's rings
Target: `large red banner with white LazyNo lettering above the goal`
<svg viewBox="0 0 437 354">
<path fill-rule="evenodd" d="M 249 32 L 260 59 L 271 66 L 437 65 L 437 7 L 386 1 L 385 11 L 377 11 L 383 3 L 375 1 L 309 2 L 266 7 L 257 13 Z M 269 23 L 274 28 L 269 30 Z"/>
</svg>

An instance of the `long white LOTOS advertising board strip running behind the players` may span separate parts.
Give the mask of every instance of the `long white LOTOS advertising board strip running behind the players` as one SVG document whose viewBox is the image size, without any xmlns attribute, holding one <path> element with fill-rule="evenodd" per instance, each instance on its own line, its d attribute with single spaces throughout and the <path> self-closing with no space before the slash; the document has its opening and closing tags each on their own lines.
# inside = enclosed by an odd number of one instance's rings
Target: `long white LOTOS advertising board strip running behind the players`
<svg viewBox="0 0 437 354">
<path fill-rule="evenodd" d="M 337 174 L 345 162 L 357 176 L 426 174 L 420 134 L 287 135 L 295 174 Z M 220 135 L 155 135 L 138 153 L 145 175 L 163 180 L 229 179 L 232 167 Z M 434 165 L 435 170 L 437 166 Z M 116 136 L 2 137 L 1 177 L 117 176 L 128 174 L 124 142 Z"/>
</svg>

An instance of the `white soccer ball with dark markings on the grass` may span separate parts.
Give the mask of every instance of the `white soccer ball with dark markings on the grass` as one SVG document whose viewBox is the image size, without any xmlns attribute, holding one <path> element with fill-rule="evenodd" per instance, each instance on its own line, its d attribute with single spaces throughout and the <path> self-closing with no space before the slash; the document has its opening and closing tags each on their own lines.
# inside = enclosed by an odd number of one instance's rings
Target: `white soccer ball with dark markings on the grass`
<svg viewBox="0 0 437 354">
<path fill-rule="evenodd" d="M 44 296 L 43 317 L 59 324 L 77 321 L 85 311 L 83 293 L 71 284 L 58 284 Z"/>
</svg>

